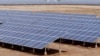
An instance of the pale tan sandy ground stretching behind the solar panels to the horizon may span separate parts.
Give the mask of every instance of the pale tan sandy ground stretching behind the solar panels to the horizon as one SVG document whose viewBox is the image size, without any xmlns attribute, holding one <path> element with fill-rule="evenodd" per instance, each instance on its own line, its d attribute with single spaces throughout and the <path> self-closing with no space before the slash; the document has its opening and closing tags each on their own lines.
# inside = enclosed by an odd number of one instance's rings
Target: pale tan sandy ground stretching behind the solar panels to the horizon
<svg viewBox="0 0 100 56">
<path fill-rule="evenodd" d="M 88 5 L 11 5 L 0 6 L 1 10 L 22 10 L 22 11 L 50 11 L 64 13 L 81 13 L 100 15 L 100 6 Z"/>
</svg>

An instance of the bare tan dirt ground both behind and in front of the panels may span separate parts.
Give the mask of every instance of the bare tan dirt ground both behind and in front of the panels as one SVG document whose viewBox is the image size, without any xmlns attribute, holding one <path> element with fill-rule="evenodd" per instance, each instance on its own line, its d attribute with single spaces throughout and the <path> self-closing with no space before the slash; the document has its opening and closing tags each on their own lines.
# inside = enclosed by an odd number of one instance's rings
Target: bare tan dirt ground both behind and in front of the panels
<svg viewBox="0 0 100 56">
<path fill-rule="evenodd" d="M 100 16 L 100 6 L 91 5 L 6 5 L 0 6 L 0 10 L 21 10 L 21 11 L 49 11 L 62 13 L 81 13 L 96 14 Z M 57 49 L 58 44 L 50 45 L 50 48 Z M 79 45 L 62 44 L 64 51 L 61 55 L 58 53 L 51 56 L 100 56 L 100 47 L 87 48 Z M 28 52 L 12 50 L 0 47 L 0 56 L 40 56 Z"/>
</svg>

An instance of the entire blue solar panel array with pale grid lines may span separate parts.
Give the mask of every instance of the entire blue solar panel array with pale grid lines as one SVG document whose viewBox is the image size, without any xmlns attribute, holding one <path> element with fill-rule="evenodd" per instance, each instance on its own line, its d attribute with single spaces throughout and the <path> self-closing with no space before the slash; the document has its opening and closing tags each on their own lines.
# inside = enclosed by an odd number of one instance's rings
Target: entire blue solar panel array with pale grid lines
<svg viewBox="0 0 100 56">
<path fill-rule="evenodd" d="M 100 38 L 96 15 L 0 11 L 0 42 L 43 49 L 59 39 L 95 43 Z"/>
</svg>

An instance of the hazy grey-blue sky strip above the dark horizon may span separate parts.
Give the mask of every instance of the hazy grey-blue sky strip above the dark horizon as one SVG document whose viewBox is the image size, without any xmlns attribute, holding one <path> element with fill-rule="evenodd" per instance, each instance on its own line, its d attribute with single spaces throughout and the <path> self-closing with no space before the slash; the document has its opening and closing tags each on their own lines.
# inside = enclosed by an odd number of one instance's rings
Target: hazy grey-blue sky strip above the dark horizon
<svg viewBox="0 0 100 56">
<path fill-rule="evenodd" d="M 100 5 L 100 0 L 0 0 L 0 5 Z"/>
</svg>

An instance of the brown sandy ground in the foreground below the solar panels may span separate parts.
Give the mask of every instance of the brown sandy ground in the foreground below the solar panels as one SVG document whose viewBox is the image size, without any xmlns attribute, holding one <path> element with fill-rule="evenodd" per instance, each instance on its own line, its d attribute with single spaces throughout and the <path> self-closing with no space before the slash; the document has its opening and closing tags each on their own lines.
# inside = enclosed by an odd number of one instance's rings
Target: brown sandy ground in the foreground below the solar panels
<svg viewBox="0 0 100 56">
<path fill-rule="evenodd" d="M 50 54 L 48 56 L 100 56 L 100 48 L 88 48 L 82 47 L 80 45 L 61 45 L 62 53 L 59 55 L 59 52 Z M 59 44 L 55 43 L 49 46 L 55 50 L 59 50 Z M 13 49 L 0 48 L 0 56 L 42 56 L 34 53 L 22 52 Z"/>
</svg>

